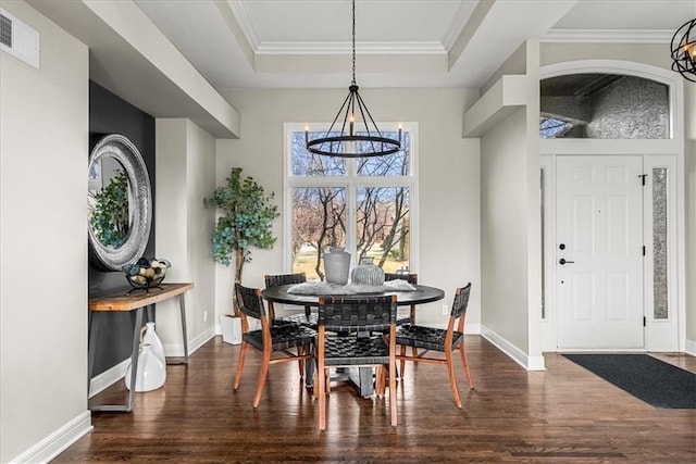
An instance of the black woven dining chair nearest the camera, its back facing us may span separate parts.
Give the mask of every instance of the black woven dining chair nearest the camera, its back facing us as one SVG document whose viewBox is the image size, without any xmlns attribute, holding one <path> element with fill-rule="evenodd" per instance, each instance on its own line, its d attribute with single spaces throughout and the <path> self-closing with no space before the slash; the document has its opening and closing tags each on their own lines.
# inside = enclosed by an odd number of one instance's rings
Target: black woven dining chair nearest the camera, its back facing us
<svg viewBox="0 0 696 464">
<path fill-rule="evenodd" d="M 375 366 L 375 388 L 384 394 L 384 365 L 396 367 L 396 296 L 319 298 L 316 341 L 319 428 L 326 429 L 326 385 L 330 367 Z M 383 334 L 387 331 L 388 335 Z M 386 341 L 385 341 L 386 340 Z M 397 425 L 396 377 L 389 376 L 391 426 Z"/>
</svg>

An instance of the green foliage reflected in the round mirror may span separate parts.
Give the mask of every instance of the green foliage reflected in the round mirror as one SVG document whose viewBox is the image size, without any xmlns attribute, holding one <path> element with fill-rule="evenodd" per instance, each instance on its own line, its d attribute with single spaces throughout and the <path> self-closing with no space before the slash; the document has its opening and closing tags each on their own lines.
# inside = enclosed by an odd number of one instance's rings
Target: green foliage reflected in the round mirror
<svg viewBox="0 0 696 464">
<path fill-rule="evenodd" d="M 94 195 L 89 225 L 97 240 L 107 247 L 119 248 L 128 237 L 128 179 L 122 171 Z"/>
</svg>

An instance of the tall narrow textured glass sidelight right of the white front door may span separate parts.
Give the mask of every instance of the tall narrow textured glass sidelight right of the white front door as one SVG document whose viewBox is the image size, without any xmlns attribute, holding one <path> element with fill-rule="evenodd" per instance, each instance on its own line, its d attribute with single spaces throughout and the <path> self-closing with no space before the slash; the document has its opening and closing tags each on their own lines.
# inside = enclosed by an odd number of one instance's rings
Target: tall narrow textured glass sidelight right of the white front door
<svg viewBox="0 0 696 464">
<path fill-rule="evenodd" d="M 652 168 L 654 317 L 669 317 L 667 305 L 667 170 Z"/>
</svg>

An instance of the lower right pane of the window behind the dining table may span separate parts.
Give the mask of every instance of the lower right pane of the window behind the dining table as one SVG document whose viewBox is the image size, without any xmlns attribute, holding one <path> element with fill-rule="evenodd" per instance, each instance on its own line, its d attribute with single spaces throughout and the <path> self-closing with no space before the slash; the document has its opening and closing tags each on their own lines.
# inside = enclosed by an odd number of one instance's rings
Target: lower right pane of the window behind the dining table
<svg viewBox="0 0 696 464">
<path fill-rule="evenodd" d="M 361 187 L 356 191 L 356 263 L 374 259 L 385 272 L 410 267 L 408 187 Z"/>
</svg>

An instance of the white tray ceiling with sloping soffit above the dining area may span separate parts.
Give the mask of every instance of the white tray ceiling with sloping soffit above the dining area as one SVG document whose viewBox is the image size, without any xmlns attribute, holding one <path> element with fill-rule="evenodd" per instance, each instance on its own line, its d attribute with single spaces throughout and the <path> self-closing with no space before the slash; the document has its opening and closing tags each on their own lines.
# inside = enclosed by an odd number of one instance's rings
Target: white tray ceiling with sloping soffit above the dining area
<svg viewBox="0 0 696 464">
<path fill-rule="evenodd" d="M 92 80 L 216 137 L 239 133 L 223 89 L 351 79 L 350 0 L 26 1 L 89 48 Z M 356 16 L 360 87 L 477 88 L 533 37 L 663 43 L 668 54 L 696 0 L 357 0 Z"/>
</svg>

